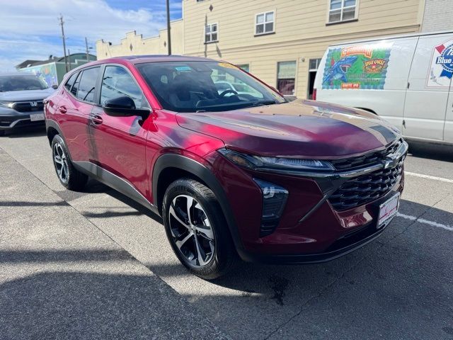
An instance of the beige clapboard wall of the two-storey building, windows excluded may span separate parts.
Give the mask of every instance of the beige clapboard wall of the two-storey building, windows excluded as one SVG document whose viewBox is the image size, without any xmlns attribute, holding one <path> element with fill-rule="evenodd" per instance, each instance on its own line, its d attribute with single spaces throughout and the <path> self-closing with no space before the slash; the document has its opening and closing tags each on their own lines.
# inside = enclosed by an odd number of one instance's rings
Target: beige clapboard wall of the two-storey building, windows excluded
<svg viewBox="0 0 453 340">
<path fill-rule="evenodd" d="M 321 58 L 334 42 L 417 32 L 419 6 L 419 0 L 358 0 L 357 21 L 326 25 L 327 0 L 183 0 L 184 53 L 250 64 L 272 86 L 277 62 L 295 60 L 295 92 L 305 98 L 309 59 Z M 275 33 L 255 36 L 256 14 L 265 11 L 275 11 Z M 205 23 L 218 23 L 219 42 L 204 43 Z"/>
</svg>

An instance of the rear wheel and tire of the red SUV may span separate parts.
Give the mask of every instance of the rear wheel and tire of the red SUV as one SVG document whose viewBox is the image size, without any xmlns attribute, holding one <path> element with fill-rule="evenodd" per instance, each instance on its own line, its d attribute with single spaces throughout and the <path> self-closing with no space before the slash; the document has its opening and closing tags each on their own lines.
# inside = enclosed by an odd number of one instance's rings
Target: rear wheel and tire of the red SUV
<svg viewBox="0 0 453 340">
<path fill-rule="evenodd" d="M 56 157 L 56 156 L 59 156 Z M 61 161 L 61 163 L 58 162 Z M 62 186 L 72 191 L 80 191 L 88 181 L 88 176 L 82 174 L 74 168 L 64 140 L 59 135 L 55 135 L 52 140 L 52 161 L 55 172 Z M 61 171 L 61 172 L 60 172 Z"/>
</svg>

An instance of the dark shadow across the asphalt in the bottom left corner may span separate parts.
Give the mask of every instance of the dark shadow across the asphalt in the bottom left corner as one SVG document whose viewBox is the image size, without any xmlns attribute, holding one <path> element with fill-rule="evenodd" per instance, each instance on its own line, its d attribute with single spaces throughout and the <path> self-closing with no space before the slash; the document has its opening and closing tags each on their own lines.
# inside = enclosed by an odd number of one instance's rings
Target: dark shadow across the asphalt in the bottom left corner
<svg viewBox="0 0 453 340">
<path fill-rule="evenodd" d="M 225 339 L 158 280 L 42 272 L 4 283 L 1 339 Z"/>
</svg>

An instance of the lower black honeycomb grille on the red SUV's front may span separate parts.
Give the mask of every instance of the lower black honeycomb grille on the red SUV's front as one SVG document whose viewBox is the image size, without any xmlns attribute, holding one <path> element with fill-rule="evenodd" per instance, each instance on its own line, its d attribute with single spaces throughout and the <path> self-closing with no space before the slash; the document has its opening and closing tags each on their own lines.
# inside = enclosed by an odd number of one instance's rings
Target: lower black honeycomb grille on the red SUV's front
<svg viewBox="0 0 453 340">
<path fill-rule="evenodd" d="M 373 171 L 345 181 L 328 201 L 335 210 L 348 210 L 367 204 L 388 193 L 401 178 L 403 161 L 393 168 Z"/>
</svg>

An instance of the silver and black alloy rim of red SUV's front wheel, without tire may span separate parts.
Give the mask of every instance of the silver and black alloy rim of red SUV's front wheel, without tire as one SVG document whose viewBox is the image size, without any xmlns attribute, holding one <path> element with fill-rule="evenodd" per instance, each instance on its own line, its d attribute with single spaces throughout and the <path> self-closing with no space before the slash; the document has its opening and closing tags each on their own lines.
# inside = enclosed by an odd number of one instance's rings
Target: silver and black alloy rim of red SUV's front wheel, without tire
<svg viewBox="0 0 453 340">
<path fill-rule="evenodd" d="M 192 266 L 206 266 L 214 256 L 215 241 L 211 222 L 202 205 L 192 196 L 173 198 L 168 209 L 173 242 Z"/>
</svg>

